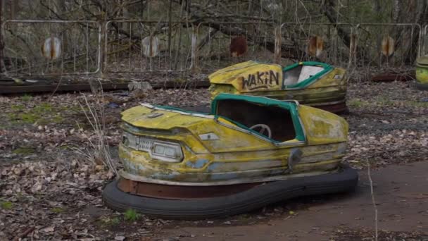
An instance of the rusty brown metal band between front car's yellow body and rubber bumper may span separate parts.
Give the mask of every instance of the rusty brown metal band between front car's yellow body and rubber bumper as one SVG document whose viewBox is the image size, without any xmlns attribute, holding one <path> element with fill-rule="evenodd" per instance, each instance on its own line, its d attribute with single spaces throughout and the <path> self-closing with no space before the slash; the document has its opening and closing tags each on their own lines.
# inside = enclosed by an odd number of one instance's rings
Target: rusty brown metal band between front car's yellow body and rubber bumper
<svg viewBox="0 0 428 241">
<path fill-rule="evenodd" d="M 162 199 L 195 199 L 208 197 L 224 197 L 238 192 L 244 192 L 263 183 L 245 183 L 237 185 L 217 185 L 217 186 L 177 186 L 162 185 L 156 183 L 143 183 L 120 178 L 118 188 L 122 192 L 128 192 L 144 197 L 155 197 Z"/>
</svg>

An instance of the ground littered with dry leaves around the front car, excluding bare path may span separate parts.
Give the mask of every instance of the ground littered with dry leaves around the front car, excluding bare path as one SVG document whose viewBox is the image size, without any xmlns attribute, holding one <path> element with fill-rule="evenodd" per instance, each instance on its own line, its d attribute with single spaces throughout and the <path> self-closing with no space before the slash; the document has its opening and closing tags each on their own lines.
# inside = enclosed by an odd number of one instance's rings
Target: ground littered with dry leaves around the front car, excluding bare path
<svg viewBox="0 0 428 241">
<path fill-rule="evenodd" d="M 103 106 L 107 142 L 115 159 L 120 111 L 141 101 L 209 104 L 206 89 L 112 92 L 103 101 L 92 94 L 85 96 L 91 106 Z M 428 161 L 427 98 L 428 92 L 412 89 L 406 82 L 349 85 L 350 112 L 344 115 L 350 125 L 346 161 L 360 169 L 366 160 L 372 168 Z M 124 214 L 103 206 L 101 190 L 113 173 L 82 155 L 91 152 L 88 142 L 96 138 L 82 108 L 88 110 L 83 94 L 0 97 L 0 240 L 156 240 L 162 228 L 177 224 L 146 216 L 125 220 L 129 218 Z M 292 216 L 293 209 L 287 204 L 273 206 L 235 219 L 258 223 Z M 225 222 L 230 221 L 206 225 Z M 332 235 L 335 240 L 366 237 L 356 236 L 358 231 Z"/>
</svg>

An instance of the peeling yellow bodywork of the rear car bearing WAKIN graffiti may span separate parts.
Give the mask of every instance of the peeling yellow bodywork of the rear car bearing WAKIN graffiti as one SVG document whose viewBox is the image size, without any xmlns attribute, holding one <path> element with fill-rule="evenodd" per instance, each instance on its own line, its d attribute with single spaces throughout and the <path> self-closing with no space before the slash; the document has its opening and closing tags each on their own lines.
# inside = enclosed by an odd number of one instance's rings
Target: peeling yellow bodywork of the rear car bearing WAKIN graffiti
<svg viewBox="0 0 428 241">
<path fill-rule="evenodd" d="M 264 74 L 259 80 L 257 77 L 261 73 Z M 273 81 L 276 80 L 275 78 L 271 81 L 271 73 L 278 73 L 278 84 Z M 306 87 L 289 88 L 284 85 L 282 66 L 247 61 L 218 70 L 208 78 L 211 83 L 209 91 L 212 99 L 220 93 L 248 94 L 272 99 L 294 99 L 301 104 L 315 106 L 345 101 L 347 89 L 345 74 L 346 70 L 343 68 L 332 68 L 328 73 L 320 76 L 319 80 Z M 258 84 L 253 89 L 245 85 L 246 81 L 251 81 L 248 80 L 248 76 L 251 75 L 256 76 L 255 81 Z"/>
</svg>

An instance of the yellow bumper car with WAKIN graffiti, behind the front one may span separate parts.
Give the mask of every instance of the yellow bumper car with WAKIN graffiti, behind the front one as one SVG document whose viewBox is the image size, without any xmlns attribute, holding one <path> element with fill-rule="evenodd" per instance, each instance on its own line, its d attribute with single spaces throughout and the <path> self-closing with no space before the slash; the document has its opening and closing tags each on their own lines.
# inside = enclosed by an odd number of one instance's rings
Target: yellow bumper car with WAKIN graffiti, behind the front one
<svg viewBox="0 0 428 241">
<path fill-rule="evenodd" d="M 212 97 L 220 93 L 296 99 L 333 113 L 346 111 L 345 70 L 327 63 L 277 64 L 246 61 L 208 76 Z"/>
</svg>

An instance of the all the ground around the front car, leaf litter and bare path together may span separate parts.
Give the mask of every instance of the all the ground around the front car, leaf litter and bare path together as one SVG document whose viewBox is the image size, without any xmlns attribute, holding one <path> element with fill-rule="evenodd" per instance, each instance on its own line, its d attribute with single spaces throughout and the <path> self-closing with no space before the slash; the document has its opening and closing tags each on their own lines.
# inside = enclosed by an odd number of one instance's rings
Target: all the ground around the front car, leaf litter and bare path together
<svg viewBox="0 0 428 241">
<path fill-rule="evenodd" d="M 208 91 L 106 94 L 102 102 L 80 93 L 0 97 L 0 240 L 372 240 L 367 161 L 379 240 L 428 240 L 428 92 L 408 82 L 348 87 L 345 161 L 360 170 L 355 193 L 293 199 L 197 222 L 146 216 L 128 221 L 103 206 L 101 191 L 113 173 L 87 156 L 96 135 L 82 109 L 89 110 L 85 97 L 89 106 L 103 107 L 107 142 L 117 161 L 120 111 L 141 101 L 207 105 Z"/>
</svg>

